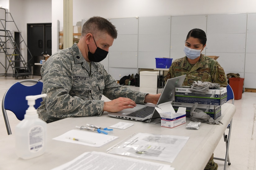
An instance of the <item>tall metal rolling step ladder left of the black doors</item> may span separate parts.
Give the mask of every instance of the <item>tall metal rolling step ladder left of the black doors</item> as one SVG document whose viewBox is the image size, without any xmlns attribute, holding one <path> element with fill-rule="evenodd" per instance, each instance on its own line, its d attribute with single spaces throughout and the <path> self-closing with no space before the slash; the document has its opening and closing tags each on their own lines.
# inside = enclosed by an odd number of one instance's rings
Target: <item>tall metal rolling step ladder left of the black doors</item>
<svg viewBox="0 0 256 170">
<path fill-rule="evenodd" d="M 4 10 L 4 12 L 2 12 L 2 10 Z M 0 60 L 0 64 L 4 67 L 5 73 L 0 73 L 0 75 L 12 75 L 12 77 L 15 77 L 16 79 L 18 79 L 18 77 L 26 79 L 29 77 L 29 75 L 32 75 L 32 73 L 29 69 L 28 62 L 25 61 L 21 53 L 20 46 L 23 44 L 22 48 L 28 51 L 27 55 L 30 55 L 30 60 L 33 58 L 32 54 L 30 53 L 21 34 L 20 42 L 16 43 L 13 36 L 14 32 L 11 32 L 7 29 L 7 26 L 10 28 L 11 23 L 13 23 L 15 27 L 12 29 L 16 29 L 17 32 L 20 33 L 16 23 L 11 16 L 11 13 L 7 12 L 4 8 L 0 8 L 0 12 L 2 12 L 1 14 L 5 13 L 4 18 L 0 15 L 0 57 L 5 57 L 5 60 Z M 4 53 L 4 55 L 1 53 Z M 8 73 L 8 70 L 11 69 L 12 73 Z"/>
</svg>

